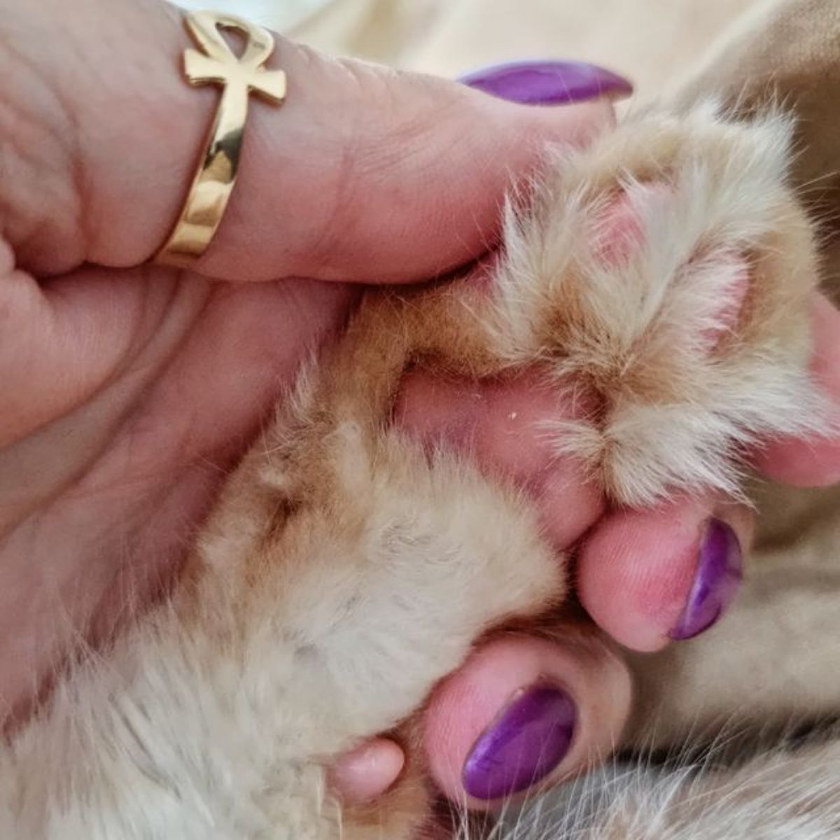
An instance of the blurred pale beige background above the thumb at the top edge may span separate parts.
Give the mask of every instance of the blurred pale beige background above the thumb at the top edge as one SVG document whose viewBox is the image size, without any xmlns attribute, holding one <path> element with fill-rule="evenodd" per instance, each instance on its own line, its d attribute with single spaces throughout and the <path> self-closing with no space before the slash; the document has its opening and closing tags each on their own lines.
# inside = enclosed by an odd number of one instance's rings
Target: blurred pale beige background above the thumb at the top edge
<svg viewBox="0 0 840 840">
<path fill-rule="evenodd" d="M 186 6 L 206 3 L 186 0 Z M 685 71 L 735 17 L 767 0 L 216 0 L 337 55 L 457 76 L 517 58 L 593 61 L 642 92 Z"/>
</svg>

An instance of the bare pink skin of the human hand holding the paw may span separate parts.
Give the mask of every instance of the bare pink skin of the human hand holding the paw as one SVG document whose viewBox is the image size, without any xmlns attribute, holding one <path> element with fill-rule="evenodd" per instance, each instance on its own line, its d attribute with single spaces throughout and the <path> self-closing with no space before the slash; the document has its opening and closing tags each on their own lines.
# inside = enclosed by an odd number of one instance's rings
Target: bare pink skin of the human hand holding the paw
<svg viewBox="0 0 840 840">
<path fill-rule="evenodd" d="M 218 235 L 192 270 L 173 270 L 149 260 L 218 97 L 179 76 L 180 13 L 151 0 L 0 0 L 0 685 L 10 719 L 79 638 L 112 632 L 173 578 L 225 471 L 301 360 L 341 328 L 360 283 L 422 281 L 479 258 L 496 242 L 505 191 L 544 144 L 584 144 L 612 121 L 605 99 L 528 107 L 278 43 L 271 66 L 286 70 L 287 101 L 252 103 Z M 840 318 L 822 299 L 815 327 L 814 369 L 840 402 Z M 538 423 L 566 409 L 527 376 L 503 389 L 415 378 L 399 417 L 452 445 L 453 417 L 470 424 L 484 468 L 533 485 L 558 549 L 586 535 L 578 588 L 596 622 L 627 647 L 661 648 L 709 517 L 726 518 L 744 548 L 748 518 L 709 498 L 618 521 L 562 459 L 534 484 L 545 461 Z M 840 477 L 840 443 L 821 446 L 815 457 L 812 444 L 777 443 L 761 465 L 828 483 Z M 462 798 L 470 746 L 540 675 L 591 710 L 579 738 L 593 749 L 620 727 L 630 697 L 609 643 L 494 643 L 428 707 L 446 795 Z M 367 798 L 401 765 L 399 748 L 379 740 L 339 763 L 336 784 Z M 560 762 L 553 778 L 574 770 Z"/>
</svg>

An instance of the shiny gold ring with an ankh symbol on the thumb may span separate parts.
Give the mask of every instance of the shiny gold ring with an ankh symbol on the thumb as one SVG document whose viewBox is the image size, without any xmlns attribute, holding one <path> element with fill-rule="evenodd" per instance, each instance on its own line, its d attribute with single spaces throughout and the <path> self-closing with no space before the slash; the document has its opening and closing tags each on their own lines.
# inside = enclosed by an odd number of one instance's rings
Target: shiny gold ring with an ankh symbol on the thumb
<svg viewBox="0 0 840 840">
<path fill-rule="evenodd" d="M 190 265 L 204 253 L 222 221 L 236 182 L 249 95 L 255 92 L 276 104 L 286 97 L 286 74 L 263 66 L 274 50 L 268 29 L 219 12 L 186 14 L 185 24 L 202 50 L 184 50 L 186 81 L 220 85 L 223 90 L 181 216 L 155 255 L 156 262 L 180 266 Z M 231 50 L 222 29 L 234 29 L 244 36 L 242 55 Z"/>
</svg>

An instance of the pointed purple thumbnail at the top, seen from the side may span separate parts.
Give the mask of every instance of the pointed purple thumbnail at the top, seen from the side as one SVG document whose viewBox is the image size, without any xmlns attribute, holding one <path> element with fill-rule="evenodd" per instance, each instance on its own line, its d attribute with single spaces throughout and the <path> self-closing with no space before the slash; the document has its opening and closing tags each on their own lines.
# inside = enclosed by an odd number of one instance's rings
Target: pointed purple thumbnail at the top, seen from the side
<svg viewBox="0 0 840 840">
<path fill-rule="evenodd" d="M 583 61 L 510 61 L 472 71 L 459 81 L 494 97 L 528 105 L 562 105 L 633 93 L 627 79 Z"/>
</svg>

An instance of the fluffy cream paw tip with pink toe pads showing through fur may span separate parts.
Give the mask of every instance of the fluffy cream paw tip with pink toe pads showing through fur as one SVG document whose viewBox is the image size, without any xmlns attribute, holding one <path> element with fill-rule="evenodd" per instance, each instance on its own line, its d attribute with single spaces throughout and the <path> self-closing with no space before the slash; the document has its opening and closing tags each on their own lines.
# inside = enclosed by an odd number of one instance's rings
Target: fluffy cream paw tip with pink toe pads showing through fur
<svg viewBox="0 0 840 840">
<path fill-rule="evenodd" d="M 556 447 L 616 501 L 738 495 L 756 444 L 826 427 L 791 132 L 781 113 L 739 122 L 711 105 L 632 118 L 560 158 L 509 219 L 494 348 L 550 360 L 599 403 L 556 424 Z"/>
</svg>

